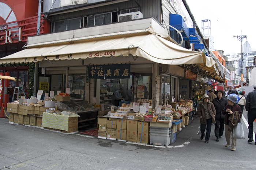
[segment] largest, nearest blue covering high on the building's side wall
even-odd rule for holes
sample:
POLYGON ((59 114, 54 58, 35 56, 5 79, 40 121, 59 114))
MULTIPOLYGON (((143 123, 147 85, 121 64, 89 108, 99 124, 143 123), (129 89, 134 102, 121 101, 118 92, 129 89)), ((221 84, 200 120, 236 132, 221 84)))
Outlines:
MULTIPOLYGON (((178 29, 179 31, 183 31, 182 37, 189 37, 189 28, 185 21, 183 20, 181 15, 178 14, 172 14, 170 13, 170 25, 172 25, 174 28, 178 29)), ((174 31, 173 28, 170 27, 170 31, 174 31)))

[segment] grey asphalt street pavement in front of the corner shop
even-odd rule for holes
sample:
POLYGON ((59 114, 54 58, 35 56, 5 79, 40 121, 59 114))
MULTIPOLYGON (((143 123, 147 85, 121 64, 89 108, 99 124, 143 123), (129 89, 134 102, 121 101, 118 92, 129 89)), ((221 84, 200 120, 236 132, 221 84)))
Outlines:
MULTIPOLYGON (((247 119, 245 110, 244 116, 247 119)), ((209 143, 204 143, 199 126, 200 120, 194 116, 177 134, 175 143, 152 147, 83 134, 54 133, 0 119, 0 169, 256 169, 256 146, 254 141, 247 142, 245 125, 245 139, 237 140, 236 151, 225 147, 225 134, 219 142, 215 141, 214 125, 209 143)))

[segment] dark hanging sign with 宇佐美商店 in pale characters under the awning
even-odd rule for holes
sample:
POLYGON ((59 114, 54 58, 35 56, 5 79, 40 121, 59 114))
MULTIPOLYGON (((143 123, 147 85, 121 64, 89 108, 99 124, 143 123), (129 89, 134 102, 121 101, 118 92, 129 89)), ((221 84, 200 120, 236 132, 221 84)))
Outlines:
POLYGON ((90 79, 129 79, 130 64, 90 65, 90 79))

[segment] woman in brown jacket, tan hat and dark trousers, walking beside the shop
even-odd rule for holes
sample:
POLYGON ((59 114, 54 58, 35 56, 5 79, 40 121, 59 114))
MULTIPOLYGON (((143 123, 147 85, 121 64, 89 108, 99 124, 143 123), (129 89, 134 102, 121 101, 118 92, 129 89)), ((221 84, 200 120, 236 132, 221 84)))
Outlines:
POLYGON ((214 105, 210 102, 209 96, 204 94, 202 96, 203 102, 199 102, 197 108, 197 114, 200 118, 200 131, 201 131, 201 140, 205 136, 205 143, 209 143, 210 134, 211 134, 211 123, 215 123, 216 111, 214 105), (206 134, 204 135, 204 131, 206 134))

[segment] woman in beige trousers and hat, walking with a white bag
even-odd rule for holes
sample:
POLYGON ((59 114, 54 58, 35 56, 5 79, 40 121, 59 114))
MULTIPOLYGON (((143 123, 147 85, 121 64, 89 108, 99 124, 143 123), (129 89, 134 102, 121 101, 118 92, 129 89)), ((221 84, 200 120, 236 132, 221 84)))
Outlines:
POLYGON ((241 108, 236 104, 236 96, 229 96, 229 98, 227 98, 227 103, 228 104, 222 110, 222 114, 226 115, 224 120, 224 129, 227 141, 226 147, 231 145, 231 151, 236 151, 237 139, 233 137, 233 127, 237 125, 239 119, 242 117, 242 111, 241 108))

